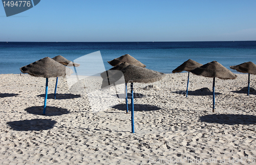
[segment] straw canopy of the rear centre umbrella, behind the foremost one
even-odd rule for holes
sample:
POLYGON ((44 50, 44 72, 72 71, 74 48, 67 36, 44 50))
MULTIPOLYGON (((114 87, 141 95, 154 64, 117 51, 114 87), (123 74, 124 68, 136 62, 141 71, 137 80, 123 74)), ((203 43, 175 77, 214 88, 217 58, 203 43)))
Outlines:
POLYGON ((119 65, 123 62, 134 64, 134 65, 137 65, 137 66, 140 66, 140 67, 146 67, 146 65, 144 65, 140 61, 136 60, 134 57, 132 57, 129 54, 125 54, 121 57, 115 58, 114 60, 108 61, 108 63, 111 64, 112 66, 117 66, 117 65, 119 65))

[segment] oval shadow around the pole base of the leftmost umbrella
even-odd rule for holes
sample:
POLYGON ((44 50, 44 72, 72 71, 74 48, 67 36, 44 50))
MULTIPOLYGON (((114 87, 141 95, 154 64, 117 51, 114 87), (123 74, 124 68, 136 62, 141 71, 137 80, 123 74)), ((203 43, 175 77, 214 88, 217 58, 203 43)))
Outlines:
MULTIPOLYGON (((25 111, 31 114, 43 115, 42 112, 44 110, 44 106, 34 106, 26 108, 25 111)), ((46 116, 57 116, 62 114, 70 113, 68 109, 65 108, 57 108, 52 106, 47 106, 47 113, 46 116)))

